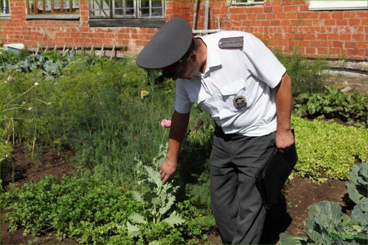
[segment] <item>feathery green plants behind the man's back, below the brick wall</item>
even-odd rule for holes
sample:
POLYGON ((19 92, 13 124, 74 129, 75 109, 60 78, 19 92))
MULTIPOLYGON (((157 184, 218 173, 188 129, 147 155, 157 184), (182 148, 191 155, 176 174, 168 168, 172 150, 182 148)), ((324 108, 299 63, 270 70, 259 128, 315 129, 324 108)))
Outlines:
POLYGON ((323 82, 329 78, 328 63, 322 58, 309 61, 301 54, 293 52, 291 56, 285 56, 274 50, 277 59, 286 68, 293 83, 293 95, 306 92, 319 92, 323 90, 323 82))

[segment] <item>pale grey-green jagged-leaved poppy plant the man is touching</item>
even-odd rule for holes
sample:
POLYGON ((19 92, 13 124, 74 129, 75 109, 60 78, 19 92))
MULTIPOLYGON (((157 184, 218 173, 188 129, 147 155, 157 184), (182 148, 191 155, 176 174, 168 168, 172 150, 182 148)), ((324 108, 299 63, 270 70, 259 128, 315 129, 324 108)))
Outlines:
MULTIPOLYGON (((166 145, 167 147, 167 145, 166 145)), ((172 244, 178 241, 182 242, 182 238, 179 232, 167 234, 169 238, 162 238, 166 235, 166 231, 169 230, 168 227, 163 224, 167 223, 170 227, 174 228, 174 225, 183 224, 185 222, 176 211, 171 212, 168 215, 168 211, 171 209, 171 206, 174 204, 176 199, 175 192, 177 191, 177 186, 173 186, 169 182, 166 184, 162 184, 160 179, 160 173, 158 171, 159 162, 155 162, 155 159, 159 159, 160 156, 166 153, 167 148, 160 147, 160 151, 158 153, 158 157, 154 157, 154 164, 156 169, 153 169, 150 166, 142 166, 142 161, 136 160, 135 172, 137 174, 137 184, 141 185, 141 192, 134 191, 135 200, 144 207, 142 213, 134 213, 129 216, 129 220, 133 223, 131 224, 127 221, 128 232, 133 237, 138 237, 139 239, 143 239, 145 241, 152 242, 157 238, 160 238, 158 241, 155 241, 155 244, 172 244), (145 171, 141 171, 142 168, 145 171), (145 185, 144 188, 142 185, 145 185), (162 219, 164 216, 168 216, 165 219, 162 219), (139 226, 139 224, 146 225, 144 227, 139 226), (151 224, 151 227, 150 227, 151 224), (143 230, 142 230, 143 228, 143 230), (147 233, 147 229, 149 232, 147 233), (179 234, 176 236, 175 234, 179 234), (177 240, 176 238, 180 238, 177 240)))

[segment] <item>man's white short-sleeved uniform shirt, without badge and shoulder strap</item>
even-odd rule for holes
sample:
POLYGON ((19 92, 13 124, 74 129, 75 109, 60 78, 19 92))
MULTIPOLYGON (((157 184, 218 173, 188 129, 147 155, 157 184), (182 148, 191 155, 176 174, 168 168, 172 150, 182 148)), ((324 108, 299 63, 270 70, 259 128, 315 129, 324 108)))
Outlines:
MULTIPOLYGON (((199 36, 197 36, 199 37, 199 36)), ((176 80, 175 110, 188 113, 193 103, 209 113, 225 134, 262 136, 276 131, 275 88, 286 68, 251 33, 222 31, 199 37, 207 46, 205 73, 176 80), (219 40, 243 36, 243 49, 220 49, 219 40), (234 96, 247 106, 236 109, 234 96)))

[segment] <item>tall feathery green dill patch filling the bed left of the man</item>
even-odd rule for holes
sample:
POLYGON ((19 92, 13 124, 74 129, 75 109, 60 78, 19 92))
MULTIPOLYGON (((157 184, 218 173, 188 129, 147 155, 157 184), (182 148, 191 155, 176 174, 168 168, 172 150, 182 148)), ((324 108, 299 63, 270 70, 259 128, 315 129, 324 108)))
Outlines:
MULTIPOLYGON (((61 54, 43 56, 52 61, 50 65, 63 63, 61 54)), ((129 164, 134 157, 138 154, 144 163, 151 162, 156 155, 152 146, 167 141, 168 130, 160 121, 173 113, 174 82, 156 83, 157 74, 138 68, 133 58, 79 58, 74 56, 53 81, 41 79, 41 69, 12 71, 14 81, 0 84, 1 106, 18 109, 1 114, 2 137, 13 138, 14 121, 15 141, 30 146, 35 142, 35 148, 71 147, 85 176, 126 183, 134 178, 129 164), (141 90, 149 94, 141 98, 141 90)), ((7 77, 4 74, 1 81, 7 77)), ((200 109, 192 110, 190 128, 197 127, 204 115, 200 109)))

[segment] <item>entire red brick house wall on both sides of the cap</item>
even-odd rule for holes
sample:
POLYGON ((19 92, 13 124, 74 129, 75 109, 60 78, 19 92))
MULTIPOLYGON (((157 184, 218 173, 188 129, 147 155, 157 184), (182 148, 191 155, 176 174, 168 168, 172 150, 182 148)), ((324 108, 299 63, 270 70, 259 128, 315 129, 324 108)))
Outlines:
MULTIPOLYGON (((192 25, 194 1, 165 1, 166 21, 182 17, 192 25)), ((80 1, 78 21, 25 20, 25 1, 10 1, 10 20, 1 20, 1 42, 22 42, 28 47, 127 45, 137 54, 157 28, 90 28, 88 2, 80 1)), ((210 1, 209 28, 220 21, 224 30, 250 32, 271 48, 307 57, 367 60, 367 10, 308 11, 306 1, 265 1, 263 5, 229 6, 210 1), (220 18, 220 19, 219 19, 220 18)), ((197 29, 204 28, 204 1, 199 4, 197 29)))

